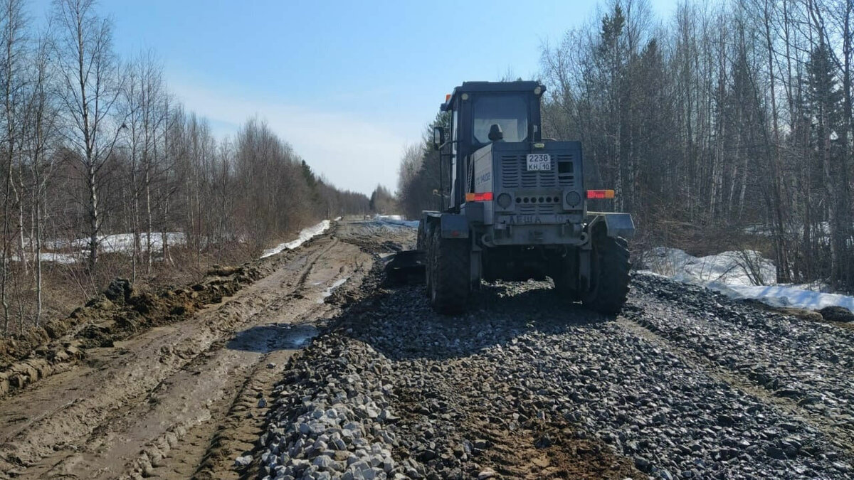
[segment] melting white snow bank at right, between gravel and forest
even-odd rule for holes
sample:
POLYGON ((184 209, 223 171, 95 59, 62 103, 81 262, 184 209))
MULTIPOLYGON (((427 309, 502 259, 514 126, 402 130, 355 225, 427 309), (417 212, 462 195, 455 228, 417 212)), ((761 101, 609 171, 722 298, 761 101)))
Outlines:
POLYGON ((772 307, 808 310, 838 306, 854 312, 854 296, 822 293, 805 285, 775 284, 774 263, 752 250, 698 258, 680 249, 659 247, 648 253, 644 263, 649 270, 642 273, 703 285, 734 299, 755 299, 772 307))

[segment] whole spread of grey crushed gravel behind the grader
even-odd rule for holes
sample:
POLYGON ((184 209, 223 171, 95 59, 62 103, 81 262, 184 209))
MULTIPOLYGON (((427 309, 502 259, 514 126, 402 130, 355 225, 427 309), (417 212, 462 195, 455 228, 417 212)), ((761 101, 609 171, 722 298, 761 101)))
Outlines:
POLYGON ((537 282, 355 305, 269 395, 260 476, 854 477, 850 331, 633 282, 617 319, 537 282))

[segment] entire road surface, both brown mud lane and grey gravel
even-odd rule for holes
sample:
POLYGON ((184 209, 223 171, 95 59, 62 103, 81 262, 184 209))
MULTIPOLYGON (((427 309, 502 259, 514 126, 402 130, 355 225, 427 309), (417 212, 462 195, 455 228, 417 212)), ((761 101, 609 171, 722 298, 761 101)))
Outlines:
POLYGON ((345 222, 183 321, 0 399, 0 477, 849 478, 854 331, 635 275, 443 317, 383 283, 414 231, 345 222))

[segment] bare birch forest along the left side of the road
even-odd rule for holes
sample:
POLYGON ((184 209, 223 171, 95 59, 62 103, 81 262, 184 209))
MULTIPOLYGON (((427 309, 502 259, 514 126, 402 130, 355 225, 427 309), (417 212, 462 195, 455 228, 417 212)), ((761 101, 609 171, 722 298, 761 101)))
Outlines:
POLYGON ((92 0, 57 0, 44 29, 27 6, 0 2, 3 333, 109 278, 191 277, 369 211, 367 196, 313 173, 261 120, 214 136, 170 94, 154 52, 116 55, 92 0))

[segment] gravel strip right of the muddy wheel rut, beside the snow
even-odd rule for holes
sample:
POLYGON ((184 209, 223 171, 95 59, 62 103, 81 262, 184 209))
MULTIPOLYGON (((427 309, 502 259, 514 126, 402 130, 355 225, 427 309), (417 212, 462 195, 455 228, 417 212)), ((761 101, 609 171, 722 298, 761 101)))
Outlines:
POLYGON ((854 330, 744 307, 661 278, 637 282, 628 315, 650 331, 788 399, 854 440, 854 330), (678 299, 678 302, 673 300, 678 299))

